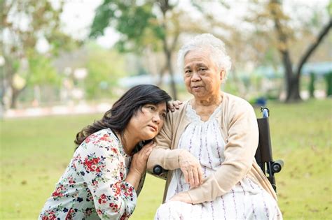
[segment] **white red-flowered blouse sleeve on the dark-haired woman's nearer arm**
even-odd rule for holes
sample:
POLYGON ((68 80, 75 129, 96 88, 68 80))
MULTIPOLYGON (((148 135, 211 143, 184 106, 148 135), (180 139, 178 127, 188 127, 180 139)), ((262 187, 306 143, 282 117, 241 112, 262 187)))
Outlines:
POLYGON ((109 134, 90 135, 78 147, 76 170, 81 174, 101 219, 126 219, 134 212, 137 195, 125 178, 125 161, 109 134))

